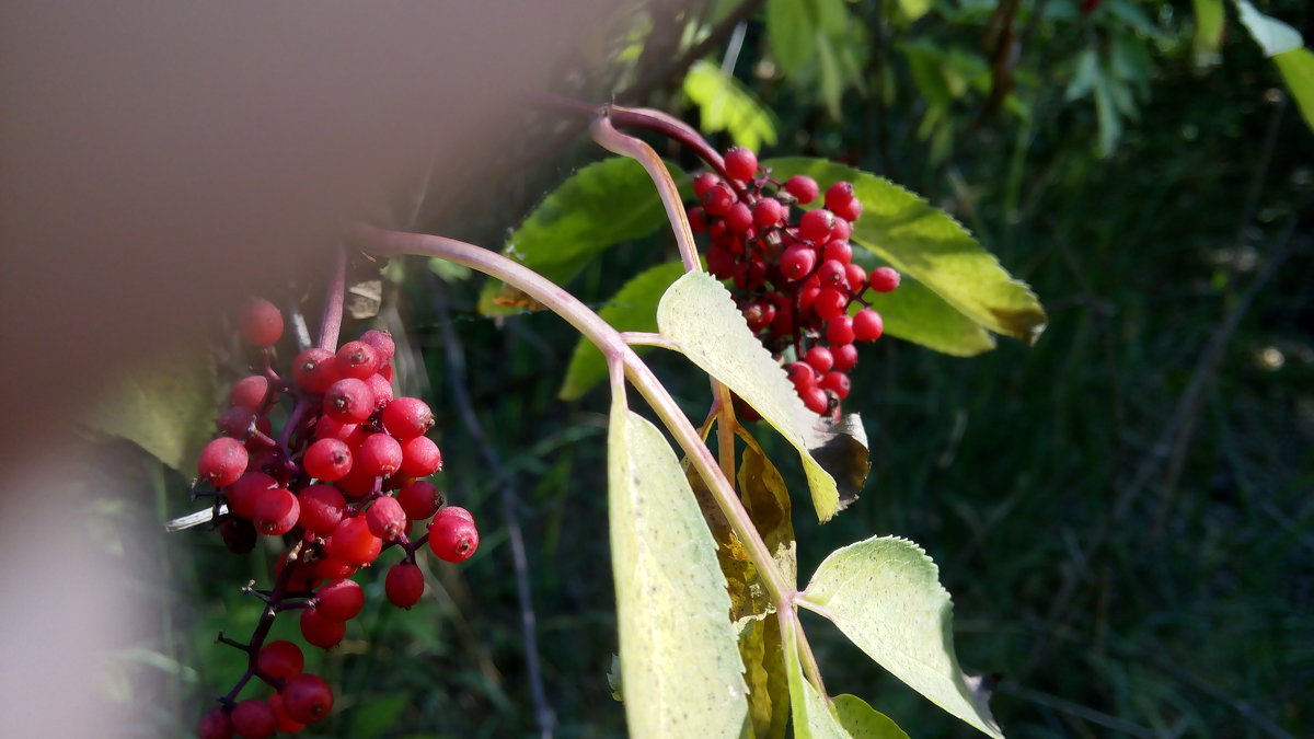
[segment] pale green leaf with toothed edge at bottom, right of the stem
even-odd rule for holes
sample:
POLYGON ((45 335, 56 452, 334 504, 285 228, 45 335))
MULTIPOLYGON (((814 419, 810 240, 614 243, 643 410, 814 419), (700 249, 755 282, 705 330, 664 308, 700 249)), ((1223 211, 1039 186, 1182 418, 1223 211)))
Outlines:
POLYGON ((1003 738, 986 696, 954 654, 953 602, 917 544, 876 536, 836 550, 800 605, 829 618, 895 677, 980 731, 1003 738))

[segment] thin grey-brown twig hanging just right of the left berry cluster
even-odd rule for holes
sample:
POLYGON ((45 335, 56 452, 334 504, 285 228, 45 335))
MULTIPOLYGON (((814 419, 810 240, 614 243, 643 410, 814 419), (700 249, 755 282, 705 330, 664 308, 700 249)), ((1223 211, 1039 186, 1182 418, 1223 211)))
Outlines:
POLYGON ((533 611, 533 596, 530 590, 530 560, 524 551, 524 535, 520 530, 520 519, 515 513, 516 497, 511 473, 502 464, 497 451, 489 442, 484 425, 478 414, 474 413, 474 404, 470 402, 469 392, 465 388, 465 351, 461 347, 460 337, 452 327, 451 309, 447 304, 447 288, 436 275, 424 271, 430 285, 434 289, 434 306, 438 312, 439 331, 443 335, 443 351, 447 359, 447 377, 452 388, 452 397, 456 401, 457 413, 465 425, 466 433, 480 447, 485 464, 493 472, 497 481, 498 494, 502 500, 502 518, 506 522, 507 540, 511 543, 511 561, 515 569, 515 592, 520 608, 520 632, 524 639, 524 665, 530 676, 530 694, 533 700, 533 715, 539 723, 539 735, 544 739, 552 736, 556 728, 556 711, 548 702, 547 689, 543 684, 541 657, 539 655, 537 617, 533 611))

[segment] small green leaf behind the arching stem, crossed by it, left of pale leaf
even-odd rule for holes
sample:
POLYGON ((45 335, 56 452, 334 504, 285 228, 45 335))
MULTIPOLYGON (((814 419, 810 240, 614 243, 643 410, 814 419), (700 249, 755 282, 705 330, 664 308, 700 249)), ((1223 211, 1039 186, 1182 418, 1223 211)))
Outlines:
MULTIPOLYGON (((681 275, 685 266, 681 262, 658 264, 643 272, 616 292, 598 316, 618 331, 656 331, 657 301, 666 288, 681 275)), ((636 346, 636 352, 644 354, 652 347, 636 346)), ((576 400, 607 377, 607 360, 589 339, 581 338, 570 355, 566 377, 561 381, 557 396, 561 400, 576 400)))

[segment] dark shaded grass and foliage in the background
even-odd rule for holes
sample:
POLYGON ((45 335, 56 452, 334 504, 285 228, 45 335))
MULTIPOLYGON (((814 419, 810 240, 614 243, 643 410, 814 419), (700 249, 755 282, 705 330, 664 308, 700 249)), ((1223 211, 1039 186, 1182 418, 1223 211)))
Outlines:
MULTIPOLYGON (((970 359, 888 338, 865 350, 845 409, 866 421, 872 472, 825 526, 795 497, 800 572, 875 534, 924 546, 954 596, 963 665, 1005 676, 993 709, 1012 738, 1314 734, 1314 134, 1235 8, 1222 63, 1197 68, 1192 3, 1108 0, 1083 17, 1070 0, 1024 1, 1010 97, 992 101, 993 1, 932 0, 916 21, 901 11, 916 3, 803 3, 850 14, 823 29, 828 51, 807 57, 773 47, 783 41, 766 21, 781 5, 761 4, 742 43, 725 34, 708 57, 721 64, 731 49, 737 89, 771 110, 778 141, 763 154, 842 160, 922 195, 1026 280, 1050 318, 1034 347, 1000 339, 970 359), (1116 110, 1116 135, 1104 104, 1070 100, 1087 53, 1121 59, 1114 83, 1134 108, 1116 110)), ((720 16, 699 13, 735 7, 627 16, 629 34, 616 38, 648 47, 625 54, 618 41, 610 51, 623 60, 581 70, 591 87, 576 95, 624 99, 629 80, 666 63, 657 51, 678 58, 685 24, 715 28, 720 16)), ((1314 38, 1305 3, 1259 8, 1314 38)), ((696 125, 679 84, 628 101, 696 125)), ((530 151, 551 137, 540 125, 527 122, 530 151)), ((578 137, 499 170, 498 205, 419 227, 501 246, 556 183, 598 158, 578 137)), ((662 231, 608 250, 568 288, 602 306, 671 258, 662 231)), ((481 280, 452 279, 460 347, 444 346, 434 276, 418 262, 394 275, 420 368, 407 389, 438 410, 442 485, 485 536, 472 561, 436 568, 439 596, 414 611, 371 600, 348 648, 323 657, 343 710, 313 734, 535 732, 498 479, 455 410, 456 348, 455 380, 511 475, 557 735, 618 735, 623 711, 606 679, 616 648, 606 389, 557 400, 576 335, 551 314, 480 317, 481 280)), ((700 421, 706 379, 669 354, 649 356, 700 421)), ((765 426, 756 433, 802 489, 796 458, 765 426)), ((177 483, 138 513, 184 512, 177 483)), ((210 640, 219 627, 248 631, 255 606, 237 589, 265 563, 200 531, 162 546, 147 554, 179 585, 156 594, 171 630, 150 648, 188 665, 188 726, 240 672, 210 640)), ((361 580, 376 593, 381 576, 361 580)), ((912 736, 972 734, 813 621, 832 693, 866 698, 912 736)), ((152 664, 125 657, 125 669, 164 669, 152 664)))

